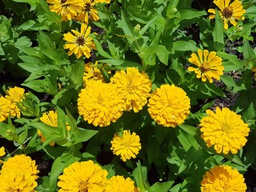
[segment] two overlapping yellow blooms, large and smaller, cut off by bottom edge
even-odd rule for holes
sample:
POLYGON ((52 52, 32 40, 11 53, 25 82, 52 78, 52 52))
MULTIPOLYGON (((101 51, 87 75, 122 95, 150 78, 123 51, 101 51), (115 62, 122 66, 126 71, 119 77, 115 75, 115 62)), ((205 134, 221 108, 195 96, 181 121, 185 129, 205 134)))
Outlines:
POLYGON ((138 187, 130 178, 114 176, 107 179, 107 171, 89 160, 74 162, 66 167, 60 175, 58 187, 62 191, 88 191, 88 192, 138 192, 138 187))

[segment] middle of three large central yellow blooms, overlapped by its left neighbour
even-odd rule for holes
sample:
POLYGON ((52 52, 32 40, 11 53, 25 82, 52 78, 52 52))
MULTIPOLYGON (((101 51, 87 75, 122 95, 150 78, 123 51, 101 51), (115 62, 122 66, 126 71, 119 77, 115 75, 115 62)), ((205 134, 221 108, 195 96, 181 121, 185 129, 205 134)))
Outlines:
POLYGON ((146 73, 139 73, 138 69, 128 67, 126 71, 116 71, 110 81, 118 86, 118 90, 121 90, 122 98, 126 102, 125 110, 134 110, 137 113, 146 105, 152 86, 146 73))

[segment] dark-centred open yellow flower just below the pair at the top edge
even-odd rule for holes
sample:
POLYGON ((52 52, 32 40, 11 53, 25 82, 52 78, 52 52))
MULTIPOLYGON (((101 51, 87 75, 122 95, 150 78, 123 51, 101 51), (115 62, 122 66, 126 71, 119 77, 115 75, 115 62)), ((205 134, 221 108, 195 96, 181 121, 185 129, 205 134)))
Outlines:
POLYGON ((67 42, 64 45, 64 49, 70 49, 68 55, 76 54, 76 58, 80 58, 85 55, 86 58, 90 58, 90 50, 96 49, 93 38, 88 37, 90 34, 90 26, 82 23, 81 32, 77 30, 71 30, 73 34, 68 32, 64 34, 64 40, 67 42))

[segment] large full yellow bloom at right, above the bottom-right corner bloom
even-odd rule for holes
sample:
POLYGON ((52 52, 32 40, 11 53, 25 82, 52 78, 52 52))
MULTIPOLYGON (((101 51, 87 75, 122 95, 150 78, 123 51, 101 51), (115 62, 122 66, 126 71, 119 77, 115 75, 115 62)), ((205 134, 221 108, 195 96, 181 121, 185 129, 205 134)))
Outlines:
POLYGON ((202 138, 208 147, 214 146, 218 154, 238 153, 247 142, 249 134, 248 124, 243 122, 241 115, 234 113, 228 108, 222 110, 217 107, 216 113, 206 110, 207 117, 202 118, 202 138))

